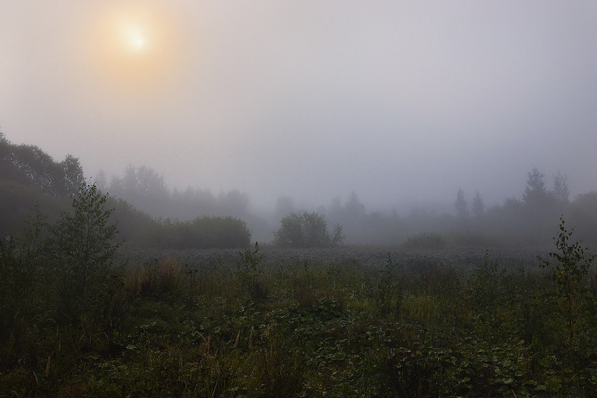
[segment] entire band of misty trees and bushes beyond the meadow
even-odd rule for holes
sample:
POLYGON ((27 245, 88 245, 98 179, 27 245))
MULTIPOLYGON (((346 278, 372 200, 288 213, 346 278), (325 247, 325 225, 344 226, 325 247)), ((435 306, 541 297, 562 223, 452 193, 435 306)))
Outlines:
MULTIPOLYGON (((36 203, 48 218, 58 218, 69 210, 69 196, 90 183, 87 175, 75 156, 54 161, 38 146, 13 144, 0 132, 0 233, 19 235, 36 203)), ((247 193, 238 190, 219 195, 190 186, 171 190, 164 175, 146 165, 130 165, 122 176, 109 180, 99 171, 92 181, 101 192, 109 193, 107 205, 115 209, 119 238, 144 246, 269 243, 282 218, 313 211, 324 216, 328 226, 340 224, 344 243, 350 244, 396 245, 434 234, 440 245, 549 245, 561 215, 575 227, 575 236, 597 243, 597 192, 569 198, 567 177, 559 172, 549 178, 549 186, 536 168, 521 175, 524 178, 527 185, 520 199, 509 198, 491 207, 485 206, 481 193, 470 199, 470 194, 455 187, 456 197, 446 199, 454 201, 452 214, 424 208, 413 208, 408 214, 370 212, 356 193, 346 200, 338 196, 316 209, 298 208, 292 198, 281 196, 275 208, 263 214, 254 211, 247 193), (217 236, 214 231, 221 229, 233 233, 217 236)))

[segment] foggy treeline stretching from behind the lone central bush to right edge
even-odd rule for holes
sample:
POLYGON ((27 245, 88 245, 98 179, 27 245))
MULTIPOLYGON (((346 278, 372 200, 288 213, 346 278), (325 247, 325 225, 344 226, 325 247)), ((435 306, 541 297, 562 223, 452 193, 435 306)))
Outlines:
MULTIPOLYGON (((367 211, 353 192, 345 202, 338 196, 316 212, 325 215, 329 224, 342 226, 346 243, 410 244, 413 237, 433 234, 434 239, 441 237, 442 242, 436 242, 440 246, 546 245, 552 241, 561 215, 576 227, 581 239, 597 242, 597 192, 577 195, 574 200, 569 196, 565 175, 557 172, 548 188, 544 174, 534 168, 527 173, 521 199, 507 198, 501 205, 485 206, 478 191, 469 203, 466 193, 458 189, 453 213, 413 207, 399 215, 395 209, 367 211)), ((282 196, 275 213, 279 219, 312 210, 295 206, 290 197, 282 196)))

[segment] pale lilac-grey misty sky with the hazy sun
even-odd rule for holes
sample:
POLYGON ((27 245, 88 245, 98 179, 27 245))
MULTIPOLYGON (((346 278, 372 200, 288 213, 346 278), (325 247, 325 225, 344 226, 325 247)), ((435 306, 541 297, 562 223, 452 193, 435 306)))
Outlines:
POLYGON ((0 128, 85 174, 376 206, 597 190, 597 2, 0 0, 0 128))

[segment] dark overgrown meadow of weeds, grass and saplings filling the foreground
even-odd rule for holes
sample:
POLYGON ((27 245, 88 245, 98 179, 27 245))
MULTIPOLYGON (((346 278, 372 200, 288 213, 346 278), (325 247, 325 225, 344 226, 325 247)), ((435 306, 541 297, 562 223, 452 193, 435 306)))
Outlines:
POLYGON ((597 394, 596 274, 563 220, 536 251, 165 252, 117 248, 104 199, 0 240, 1 396, 597 394))

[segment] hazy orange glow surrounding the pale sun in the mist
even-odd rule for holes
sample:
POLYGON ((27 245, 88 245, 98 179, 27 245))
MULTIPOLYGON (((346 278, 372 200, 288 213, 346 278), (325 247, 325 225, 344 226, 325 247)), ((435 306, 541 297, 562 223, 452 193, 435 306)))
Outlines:
POLYGON ((180 75, 177 24, 165 10, 146 2, 114 7, 91 28, 87 47, 95 84, 103 95, 121 100, 156 95, 180 75))

